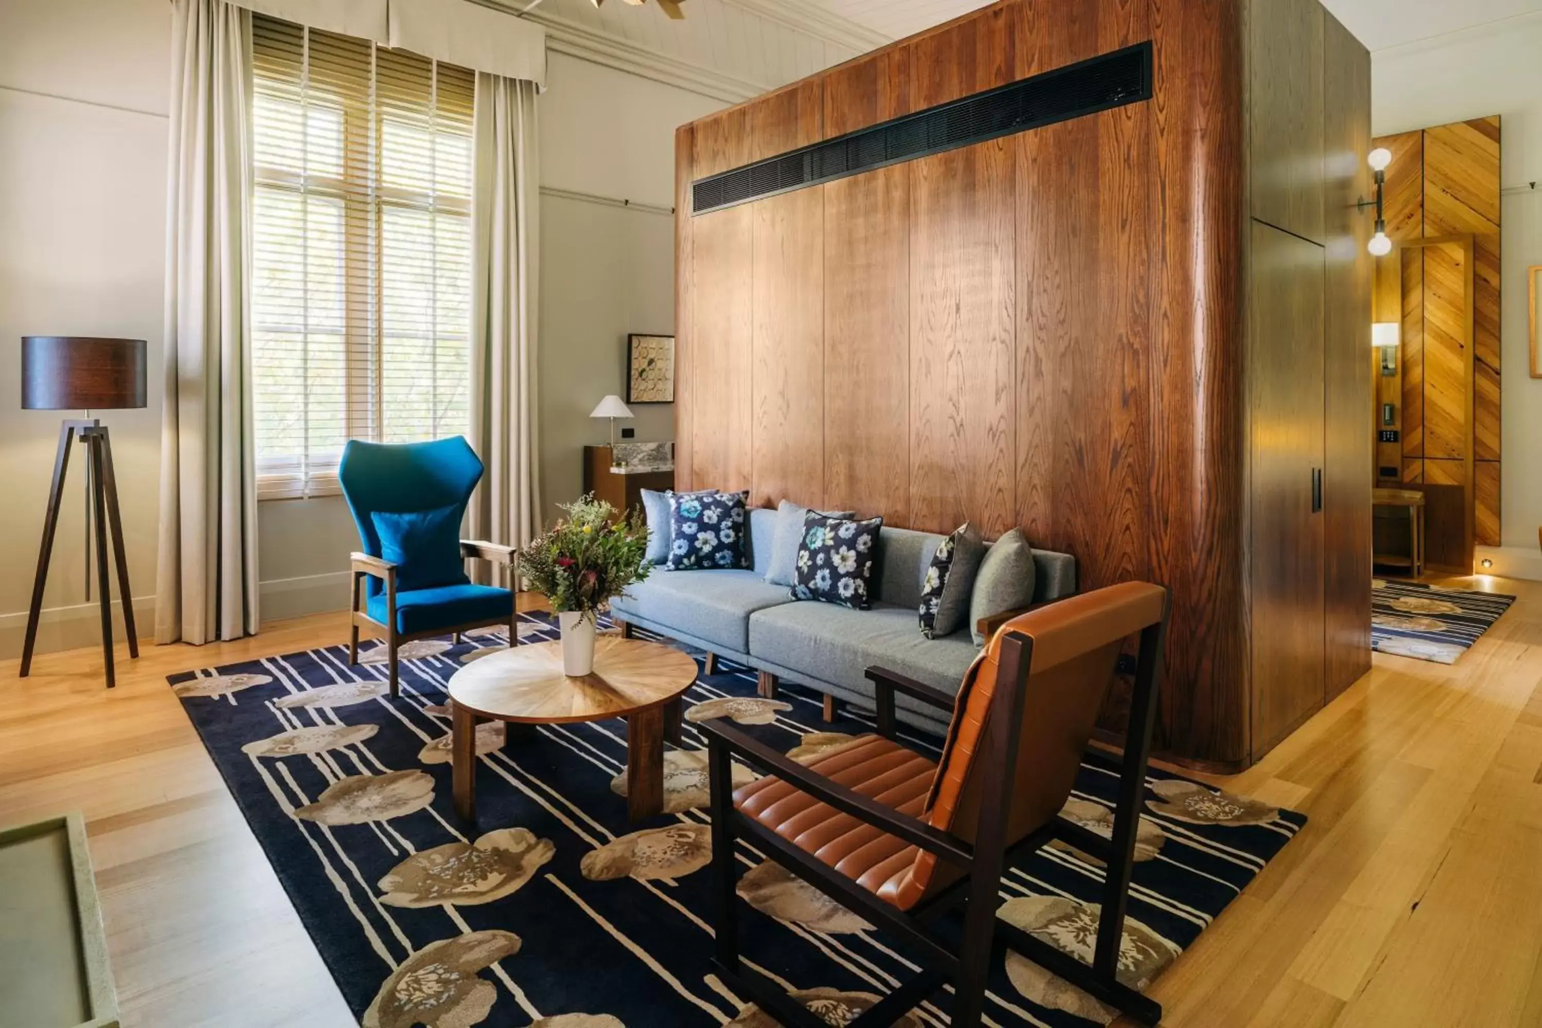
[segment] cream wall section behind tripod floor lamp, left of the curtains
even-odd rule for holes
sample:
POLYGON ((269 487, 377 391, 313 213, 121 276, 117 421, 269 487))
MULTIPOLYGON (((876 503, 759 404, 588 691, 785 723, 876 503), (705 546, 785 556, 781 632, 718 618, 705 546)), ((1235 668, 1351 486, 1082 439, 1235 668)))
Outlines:
MULTIPOLYGON (((0 657, 22 649, 59 422, 83 416, 20 410, 23 334, 150 344, 150 405, 102 418, 113 432, 136 610, 151 613, 168 34, 163 0, 0 3, 0 657)), ((99 630, 96 607, 85 604, 83 456, 77 445, 43 596, 45 650, 89 643, 99 630)))

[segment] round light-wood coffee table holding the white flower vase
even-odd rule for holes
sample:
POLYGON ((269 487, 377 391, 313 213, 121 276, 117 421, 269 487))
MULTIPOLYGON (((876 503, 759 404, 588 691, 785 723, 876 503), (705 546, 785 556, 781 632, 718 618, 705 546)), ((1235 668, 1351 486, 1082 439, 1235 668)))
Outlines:
POLYGON ((490 653, 450 678, 455 812, 476 817, 476 721, 564 724, 626 718, 626 811, 652 817, 665 803, 665 735, 680 741, 680 695, 695 661, 658 643, 601 635, 594 672, 563 674, 561 643, 490 653))

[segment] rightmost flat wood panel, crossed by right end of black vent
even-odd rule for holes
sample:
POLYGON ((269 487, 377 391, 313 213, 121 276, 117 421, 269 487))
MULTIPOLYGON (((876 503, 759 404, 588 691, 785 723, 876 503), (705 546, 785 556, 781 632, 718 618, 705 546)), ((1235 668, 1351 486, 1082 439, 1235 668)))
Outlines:
MULTIPOLYGON (((1118 0, 1029 0, 1019 15, 1016 77, 1150 35, 1144 5, 1118 0)), ((1018 521, 1082 555, 1084 589, 1147 578, 1150 108, 1013 139, 1018 521)))

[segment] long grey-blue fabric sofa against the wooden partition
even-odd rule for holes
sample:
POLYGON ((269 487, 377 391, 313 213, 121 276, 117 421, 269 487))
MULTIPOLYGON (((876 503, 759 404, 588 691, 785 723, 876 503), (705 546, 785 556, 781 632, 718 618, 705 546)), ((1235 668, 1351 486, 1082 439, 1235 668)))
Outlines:
MULTIPOLYGON (((766 584, 776 512, 749 512, 751 570, 666 572, 662 567, 611 603, 637 627, 699 646, 711 653, 811 686, 837 700, 871 701, 873 664, 956 694, 979 652, 968 627, 928 640, 916 607, 921 583, 941 535, 884 529, 879 533, 871 610, 796 601, 786 586, 766 584)), ((1035 550, 1033 603, 1076 592, 1076 561, 1067 553, 1035 550)), ((930 729, 947 727, 947 715, 899 695, 899 717, 930 729)))

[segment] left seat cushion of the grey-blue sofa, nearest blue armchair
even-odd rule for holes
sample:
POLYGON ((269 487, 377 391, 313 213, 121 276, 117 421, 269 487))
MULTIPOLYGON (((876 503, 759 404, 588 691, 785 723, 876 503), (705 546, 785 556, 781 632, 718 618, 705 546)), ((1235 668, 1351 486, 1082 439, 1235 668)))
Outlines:
POLYGON ((768 586, 748 569, 655 570, 646 581, 628 586, 625 595, 611 601, 611 609, 621 618, 646 618, 736 653, 748 653, 749 615, 791 603, 786 586, 768 586))

